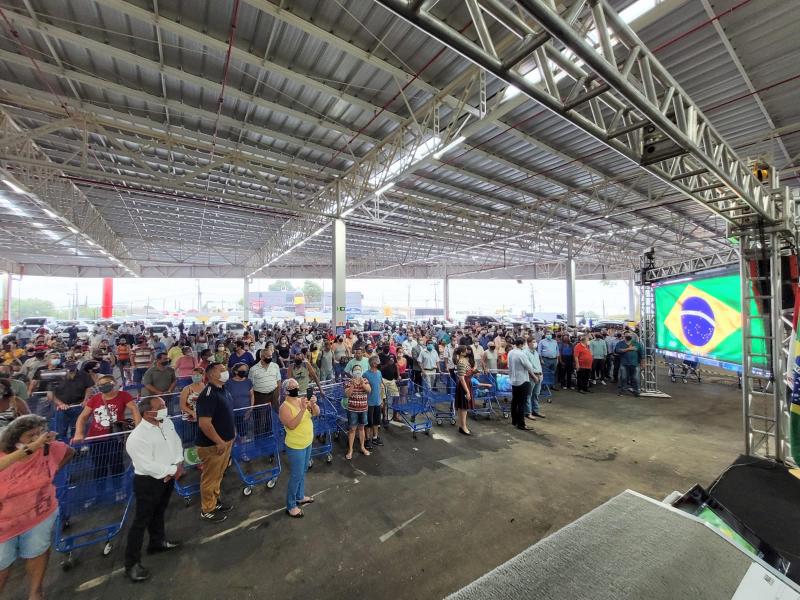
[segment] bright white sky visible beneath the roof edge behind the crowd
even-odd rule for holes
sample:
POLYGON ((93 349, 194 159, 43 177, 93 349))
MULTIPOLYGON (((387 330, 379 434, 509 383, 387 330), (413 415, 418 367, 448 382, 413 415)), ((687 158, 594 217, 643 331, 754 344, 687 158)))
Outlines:
MULTIPOLYGON (((272 280, 257 279, 250 291, 266 291, 272 280)), ((330 291, 330 280, 314 280, 330 291)), ((115 279, 115 305, 133 304, 144 306, 149 301, 156 310, 173 311, 176 308, 190 309, 197 305, 198 283, 202 302, 225 303, 233 307, 243 295, 241 279, 115 279)), ((301 287, 302 280, 292 280, 301 287)), ((578 281, 577 310, 603 314, 622 314, 628 311, 628 284, 626 281, 578 281)), ((99 306, 102 280, 69 279, 56 277, 15 277, 12 296, 18 298, 44 298, 51 300, 57 308, 70 305, 77 285, 80 304, 99 306)), ((404 309, 409 294, 413 307, 442 306, 441 280, 414 279, 351 279, 347 291, 364 294, 366 306, 393 306, 404 309)), ((536 312, 564 312, 566 309, 566 282, 554 280, 478 280, 454 279, 450 282, 451 312, 469 311, 494 314, 500 309, 513 313, 530 310, 531 286, 536 303, 536 312)), ((638 292, 638 290, 637 290, 638 292)))

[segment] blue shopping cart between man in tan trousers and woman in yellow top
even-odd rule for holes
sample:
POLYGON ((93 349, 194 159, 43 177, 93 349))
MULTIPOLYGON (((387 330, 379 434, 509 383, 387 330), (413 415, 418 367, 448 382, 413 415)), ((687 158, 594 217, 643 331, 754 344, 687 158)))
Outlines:
POLYGON ((237 408, 233 411, 236 441, 233 444, 233 464, 249 496, 253 487, 266 483, 275 487, 281 472, 280 450, 283 446, 282 428, 271 404, 237 408))

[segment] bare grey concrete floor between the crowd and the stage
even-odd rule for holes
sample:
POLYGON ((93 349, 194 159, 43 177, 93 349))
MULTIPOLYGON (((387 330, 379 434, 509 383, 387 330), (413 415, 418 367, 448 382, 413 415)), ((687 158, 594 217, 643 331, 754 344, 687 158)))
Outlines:
MULTIPOLYGON (((730 464, 743 446, 735 382, 662 388, 672 398, 556 392, 533 432, 481 419, 471 438, 448 423, 414 440, 393 426, 352 462, 337 445, 308 474, 317 501, 302 520, 283 512, 286 473, 244 497, 229 470, 228 521, 200 522, 196 502, 175 498, 167 531, 184 547, 144 557, 151 581, 123 577, 123 533, 108 557, 76 552, 67 573, 54 555, 48 597, 441 598, 625 489, 661 499, 730 464)), ((24 597, 22 575, 6 597, 24 597)))

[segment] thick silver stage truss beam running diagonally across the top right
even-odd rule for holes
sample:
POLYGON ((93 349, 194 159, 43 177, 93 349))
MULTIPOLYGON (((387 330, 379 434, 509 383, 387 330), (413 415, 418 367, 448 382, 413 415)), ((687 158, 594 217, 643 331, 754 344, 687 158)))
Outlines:
POLYGON ((606 0, 562 14, 542 0, 470 0, 447 15, 429 0, 377 1, 726 221, 785 218, 606 0))

